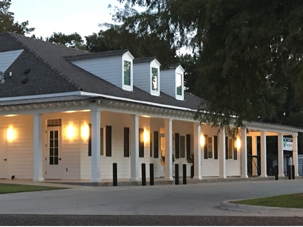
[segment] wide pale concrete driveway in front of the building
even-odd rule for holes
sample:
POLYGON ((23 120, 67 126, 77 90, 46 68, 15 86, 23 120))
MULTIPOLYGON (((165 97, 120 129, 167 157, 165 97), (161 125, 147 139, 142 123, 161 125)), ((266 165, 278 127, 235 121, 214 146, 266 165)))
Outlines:
POLYGON ((281 216, 274 211, 223 210, 219 205, 225 200, 303 192, 303 180, 68 187, 73 188, 2 194, 0 214, 281 216))

